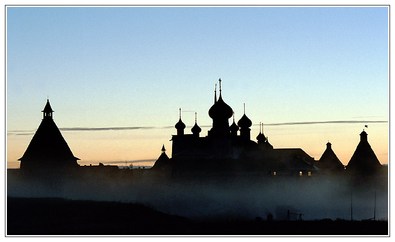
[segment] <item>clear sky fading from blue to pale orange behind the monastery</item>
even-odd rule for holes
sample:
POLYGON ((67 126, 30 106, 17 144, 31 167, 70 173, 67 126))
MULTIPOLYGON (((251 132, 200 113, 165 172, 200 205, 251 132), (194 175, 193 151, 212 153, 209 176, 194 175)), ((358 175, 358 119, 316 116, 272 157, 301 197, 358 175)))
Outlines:
MULTIPOLYGON (((6 7, 6 157, 17 168, 46 99, 79 164, 150 166, 174 125, 206 136, 224 101, 274 148, 349 162, 389 144, 388 7, 6 7)), ((229 124, 232 123, 229 119, 229 124)))

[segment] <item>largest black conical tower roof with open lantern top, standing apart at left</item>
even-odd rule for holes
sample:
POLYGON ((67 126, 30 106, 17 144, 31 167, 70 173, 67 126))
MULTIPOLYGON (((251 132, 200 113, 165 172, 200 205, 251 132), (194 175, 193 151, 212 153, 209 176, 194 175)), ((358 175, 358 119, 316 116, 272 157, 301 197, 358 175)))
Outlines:
MULTIPOLYGON (((49 102, 44 111, 51 111, 49 102)), ((25 153, 18 160, 21 169, 70 168, 77 160, 52 119, 43 119, 25 153)))

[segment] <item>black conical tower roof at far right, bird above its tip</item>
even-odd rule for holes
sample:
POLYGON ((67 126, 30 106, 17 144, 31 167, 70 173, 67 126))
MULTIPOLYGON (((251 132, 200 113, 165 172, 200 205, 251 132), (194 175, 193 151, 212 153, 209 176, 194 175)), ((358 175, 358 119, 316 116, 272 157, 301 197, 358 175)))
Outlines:
POLYGON ((347 164, 346 171, 369 174, 378 171, 380 168, 380 161, 367 141, 367 134, 362 131, 359 144, 347 164))

